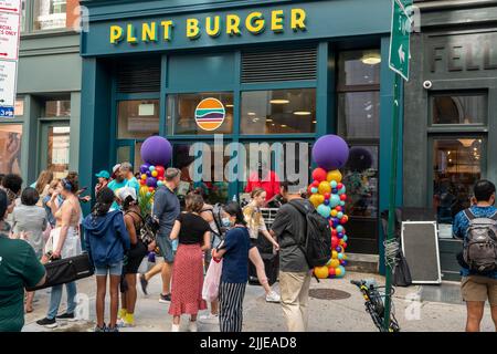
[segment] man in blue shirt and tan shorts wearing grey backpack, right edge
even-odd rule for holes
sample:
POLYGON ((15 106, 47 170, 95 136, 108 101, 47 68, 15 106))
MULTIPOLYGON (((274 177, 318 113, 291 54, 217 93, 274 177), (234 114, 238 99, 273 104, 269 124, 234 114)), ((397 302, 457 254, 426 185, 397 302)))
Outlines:
POLYGON ((478 180, 472 207, 456 215, 453 233, 464 240, 457 259, 463 267, 461 291, 467 308, 467 332, 478 332, 485 302, 497 331, 497 208, 495 185, 478 180))

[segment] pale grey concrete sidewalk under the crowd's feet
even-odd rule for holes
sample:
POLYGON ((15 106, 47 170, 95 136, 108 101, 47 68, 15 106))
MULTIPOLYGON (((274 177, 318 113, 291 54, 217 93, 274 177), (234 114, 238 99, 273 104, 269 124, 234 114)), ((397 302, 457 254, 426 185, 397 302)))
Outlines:
MULTIPOLYGON (((321 280, 317 283, 311 281, 311 292, 332 290, 331 295, 337 295, 336 300, 320 300, 310 298, 309 301, 309 331, 311 332, 377 332, 369 314, 364 310, 363 299, 359 290, 350 284, 350 280, 377 279, 379 284, 384 280, 376 274, 348 273, 345 279, 321 280)), ((158 302, 160 292, 160 277, 157 275, 150 281, 148 292, 145 296, 138 289, 138 301, 135 313, 137 326, 133 329, 121 329, 121 332, 169 332, 171 329, 171 316, 168 312, 168 304, 158 302)), ((464 303, 436 302, 437 296, 432 296, 434 301, 413 302, 416 294, 425 294, 445 291, 451 288, 455 293, 457 283, 444 283, 443 287, 410 287, 398 288, 393 298, 395 315, 403 332, 458 332, 464 331, 466 321, 466 310, 464 303), (429 291, 427 291, 429 290, 429 291), (408 309, 408 311, 405 311, 408 309), (419 310, 419 311, 417 311, 419 310), (416 316, 419 313, 419 319, 416 316)), ((139 285, 138 285, 139 288, 139 285)), ((274 287, 278 290, 277 284, 274 287)), ((78 292, 84 296, 89 296, 89 321, 60 322, 55 330, 49 330, 36 325, 35 321, 43 317, 49 303, 49 290, 40 291, 36 294, 38 301, 34 303, 34 312, 25 317, 24 332, 84 332, 93 331, 95 325, 95 280, 93 278, 78 282, 78 292)), ((64 292, 65 296, 65 292, 64 292)), ((108 294, 107 294, 108 296, 108 294)), ((444 296, 438 296, 444 300, 444 296)), ((65 303, 61 305, 61 313, 65 309, 65 303)), ((107 304, 108 319, 108 304, 107 304)), ((182 317, 182 331, 188 327, 188 317, 182 317)), ((219 332, 218 325, 199 323, 199 332, 219 332)), ((277 303, 266 303, 264 291, 261 287, 247 285, 244 300, 244 332, 285 332, 283 313, 277 303)), ((494 332, 489 308, 486 308, 482 331, 494 332)))

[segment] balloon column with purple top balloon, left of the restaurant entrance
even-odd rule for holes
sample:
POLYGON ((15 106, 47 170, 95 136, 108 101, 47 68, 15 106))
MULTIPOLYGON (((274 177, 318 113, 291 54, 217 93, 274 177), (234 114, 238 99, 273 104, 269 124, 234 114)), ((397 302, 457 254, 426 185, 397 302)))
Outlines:
POLYGON ((166 167, 171 160, 172 146, 161 136, 151 136, 141 145, 139 202, 144 215, 150 208, 157 187, 165 183, 166 167))

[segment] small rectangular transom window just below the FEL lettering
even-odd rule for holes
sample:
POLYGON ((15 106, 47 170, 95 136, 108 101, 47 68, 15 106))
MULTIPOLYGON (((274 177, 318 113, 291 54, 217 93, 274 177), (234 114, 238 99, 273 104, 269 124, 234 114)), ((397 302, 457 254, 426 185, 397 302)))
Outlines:
POLYGON ((488 115, 487 95, 433 94, 432 124, 485 124, 488 115))

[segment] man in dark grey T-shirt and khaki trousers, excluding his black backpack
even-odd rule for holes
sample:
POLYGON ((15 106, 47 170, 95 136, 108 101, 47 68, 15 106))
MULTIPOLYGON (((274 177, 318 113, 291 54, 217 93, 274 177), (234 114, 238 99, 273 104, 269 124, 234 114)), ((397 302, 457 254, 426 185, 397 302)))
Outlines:
POLYGON ((296 185, 282 183, 279 191, 287 204, 279 208, 271 233, 277 236, 279 244, 279 290, 288 331, 306 332, 311 270, 303 244, 307 232, 305 214, 314 207, 294 190, 296 185))

